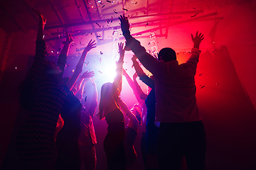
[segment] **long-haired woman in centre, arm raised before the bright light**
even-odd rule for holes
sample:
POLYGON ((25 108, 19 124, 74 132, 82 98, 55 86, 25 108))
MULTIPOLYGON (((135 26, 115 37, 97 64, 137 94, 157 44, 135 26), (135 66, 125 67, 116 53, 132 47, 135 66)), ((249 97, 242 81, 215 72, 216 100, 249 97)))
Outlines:
POLYGON ((122 87, 122 66, 124 64, 124 44, 118 43, 119 61, 117 62, 117 76, 113 83, 102 85, 100 94, 99 113, 100 119, 107 120, 107 135, 104 140, 104 149, 107 155, 109 170, 125 169, 124 152, 124 114, 119 108, 119 94, 122 87))

